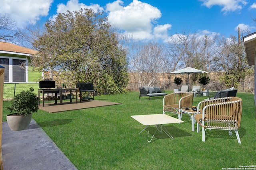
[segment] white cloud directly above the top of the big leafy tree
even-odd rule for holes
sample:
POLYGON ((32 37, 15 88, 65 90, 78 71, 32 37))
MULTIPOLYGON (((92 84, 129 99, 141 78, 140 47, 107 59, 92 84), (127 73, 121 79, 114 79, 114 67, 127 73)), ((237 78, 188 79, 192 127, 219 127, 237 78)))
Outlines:
POLYGON ((98 4, 91 4, 90 6, 85 5, 83 3, 78 3, 78 0, 69 0, 67 2, 67 4, 58 4, 57 6, 57 13, 65 13, 67 10, 73 12, 73 11, 78 11, 80 9, 84 9, 84 8, 92 8, 92 10, 94 10, 95 12, 97 12, 98 10, 100 12, 103 11, 103 8, 100 7, 100 5, 98 4))

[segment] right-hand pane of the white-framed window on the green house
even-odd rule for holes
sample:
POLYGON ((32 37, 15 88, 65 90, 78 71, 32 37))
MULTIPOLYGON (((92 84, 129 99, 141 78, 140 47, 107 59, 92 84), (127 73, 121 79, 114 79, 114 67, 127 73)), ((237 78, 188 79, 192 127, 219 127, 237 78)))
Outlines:
POLYGON ((12 59, 12 82, 26 82, 25 60, 12 59))

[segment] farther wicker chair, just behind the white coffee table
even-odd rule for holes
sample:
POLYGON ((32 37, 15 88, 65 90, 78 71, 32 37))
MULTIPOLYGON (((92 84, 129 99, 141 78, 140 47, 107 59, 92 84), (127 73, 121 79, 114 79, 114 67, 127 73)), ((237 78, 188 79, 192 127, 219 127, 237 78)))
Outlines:
POLYGON ((176 113, 178 115, 178 119, 181 120, 180 109, 192 107, 193 95, 194 94, 190 92, 175 92, 164 96, 163 113, 176 113))

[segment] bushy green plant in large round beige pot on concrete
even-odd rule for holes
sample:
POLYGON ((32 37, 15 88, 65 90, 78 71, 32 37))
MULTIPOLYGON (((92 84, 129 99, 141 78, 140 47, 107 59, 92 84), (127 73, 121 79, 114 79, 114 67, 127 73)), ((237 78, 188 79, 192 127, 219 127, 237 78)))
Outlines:
POLYGON ((10 107, 10 113, 15 113, 6 116, 7 123, 12 131, 20 131, 27 129, 32 113, 38 110, 38 97, 33 93, 32 87, 29 90, 23 90, 20 94, 16 94, 12 100, 10 107))

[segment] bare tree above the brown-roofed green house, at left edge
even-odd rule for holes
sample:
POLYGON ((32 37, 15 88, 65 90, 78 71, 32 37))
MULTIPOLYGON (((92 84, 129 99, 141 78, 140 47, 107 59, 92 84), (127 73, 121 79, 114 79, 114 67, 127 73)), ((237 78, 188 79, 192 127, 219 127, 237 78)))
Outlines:
POLYGON ((8 14, 0 13, 0 40, 15 43, 21 34, 16 22, 8 14))

